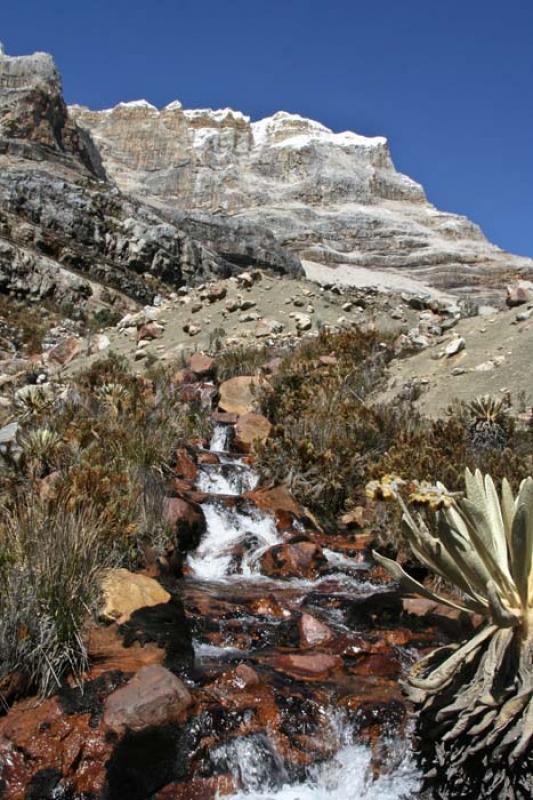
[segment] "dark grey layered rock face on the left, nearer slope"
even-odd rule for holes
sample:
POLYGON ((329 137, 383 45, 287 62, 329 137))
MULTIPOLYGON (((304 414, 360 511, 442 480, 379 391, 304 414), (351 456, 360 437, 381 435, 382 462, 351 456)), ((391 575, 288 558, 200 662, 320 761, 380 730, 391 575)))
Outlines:
POLYGON ((103 285, 149 302, 162 282, 201 283, 259 262, 301 271, 268 230, 123 195, 68 114, 52 58, 0 53, 1 292, 79 304, 103 285))

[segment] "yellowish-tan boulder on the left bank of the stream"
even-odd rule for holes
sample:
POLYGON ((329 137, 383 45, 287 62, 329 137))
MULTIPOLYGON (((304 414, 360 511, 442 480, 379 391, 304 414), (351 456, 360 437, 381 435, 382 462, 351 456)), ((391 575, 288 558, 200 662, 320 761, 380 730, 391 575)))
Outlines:
POLYGON ((109 622, 122 624, 138 609, 170 600, 169 593, 153 578, 127 569, 106 570, 100 586, 103 603, 99 616, 109 622))

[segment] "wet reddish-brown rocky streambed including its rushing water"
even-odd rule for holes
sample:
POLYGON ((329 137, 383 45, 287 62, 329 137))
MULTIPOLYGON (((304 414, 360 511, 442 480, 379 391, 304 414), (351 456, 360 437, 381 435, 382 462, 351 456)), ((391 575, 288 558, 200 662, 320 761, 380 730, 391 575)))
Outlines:
POLYGON ((0 797, 417 796, 399 680, 444 629, 405 612, 364 531, 257 489, 232 432, 180 454, 180 552, 136 576, 141 608, 123 582, 83 687, 0 719, 0 797))

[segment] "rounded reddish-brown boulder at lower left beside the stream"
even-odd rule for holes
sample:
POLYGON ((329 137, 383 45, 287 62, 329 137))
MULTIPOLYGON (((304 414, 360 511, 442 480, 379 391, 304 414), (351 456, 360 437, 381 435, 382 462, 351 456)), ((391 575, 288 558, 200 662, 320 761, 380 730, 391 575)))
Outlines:
POLYGON ((107 697, 103 724, 114 733, 183 722, 192 697, 179 678, 158 664, 142 667, 107 697))

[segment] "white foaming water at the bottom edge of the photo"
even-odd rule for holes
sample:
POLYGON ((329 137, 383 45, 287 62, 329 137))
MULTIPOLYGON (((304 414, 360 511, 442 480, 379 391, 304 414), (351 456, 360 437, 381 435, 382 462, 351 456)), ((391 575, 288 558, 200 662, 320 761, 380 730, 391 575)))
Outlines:
POLYGON ((303 783, 290 780, 266 737, 226 745, 226 763, 243 787, 231 795, 232 800, 412 800, 416 796, 419 775, 405 742, 387 743, 388 764, 374 779, 370 748, 354 744, 351 731, 339 718, 332 716, 330 722, 324 739, 338 749, 332 758, 310 767, 303 783))

